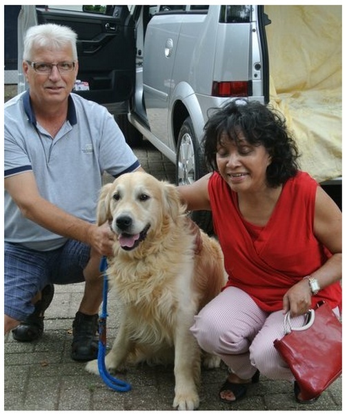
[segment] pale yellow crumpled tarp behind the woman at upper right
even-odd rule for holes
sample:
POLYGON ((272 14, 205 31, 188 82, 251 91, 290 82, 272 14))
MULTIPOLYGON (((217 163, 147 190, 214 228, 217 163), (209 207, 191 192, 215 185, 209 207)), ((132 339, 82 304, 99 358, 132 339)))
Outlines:
POLYGON ((288 121, 300 166, 341 177, 341 6, 265 6, 270 103, 288 121))

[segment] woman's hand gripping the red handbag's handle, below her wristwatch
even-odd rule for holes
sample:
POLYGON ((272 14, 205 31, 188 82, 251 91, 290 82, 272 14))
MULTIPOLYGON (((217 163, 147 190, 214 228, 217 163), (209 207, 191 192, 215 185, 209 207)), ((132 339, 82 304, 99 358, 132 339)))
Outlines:
POLYGON ((283 297, 283 312, 290 311, 290 316, 295 317, 304 315, 311 307, 311 289, 308 279, 302 279, 300 282, 287 290, 283 297))

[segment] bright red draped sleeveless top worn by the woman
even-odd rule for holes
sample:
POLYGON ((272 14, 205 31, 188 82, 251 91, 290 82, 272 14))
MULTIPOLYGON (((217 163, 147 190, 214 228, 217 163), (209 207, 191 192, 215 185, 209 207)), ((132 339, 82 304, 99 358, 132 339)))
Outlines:
MULTIPOLYGON (((259 227, 244 220, 237 193, 213 173, 208 193, 228 273, 225 287, 244 290, 266 312, 279 311, 286 291, 326 262, 331 253, 313 233, 317 186, 306 172, 298 172, 284 184, 266 226, 259 227)), ((320 290, 312 305, 322 299, 332 308, 341 306, 341 284, 320 290)))

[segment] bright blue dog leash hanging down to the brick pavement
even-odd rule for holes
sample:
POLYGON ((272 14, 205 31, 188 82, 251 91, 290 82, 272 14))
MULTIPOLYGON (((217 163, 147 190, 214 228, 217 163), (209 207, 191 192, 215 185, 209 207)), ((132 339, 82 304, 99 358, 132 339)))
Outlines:
POLYGON ((99 368, 100 377, 103 379, 106 385, 108 385, 112 390, 115 391, 130 391, 131 385, 127 382, 118 380, 115 377, 112 377, 108 372, 105 365, 105 355, 106 355, 106 318, 107 318, 107 294, 108 294, 108 277, 106 274, 106 269, 108 267, 106 257, 103 257, 100 262, 100 272, 103 274, 103 304, 102 312, 99 317, 99 352, 97 354, 97 366, 99 368))

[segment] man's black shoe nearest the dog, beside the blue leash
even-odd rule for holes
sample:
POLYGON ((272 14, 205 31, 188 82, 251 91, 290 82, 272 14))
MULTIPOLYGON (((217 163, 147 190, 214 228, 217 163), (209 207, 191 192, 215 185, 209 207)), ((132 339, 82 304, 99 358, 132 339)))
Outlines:
POLYGON ((85 315, 77 312, 72 322, 71 357, 75 361, 90 361, 97 358, 98 353, 99 315, 85 315))

